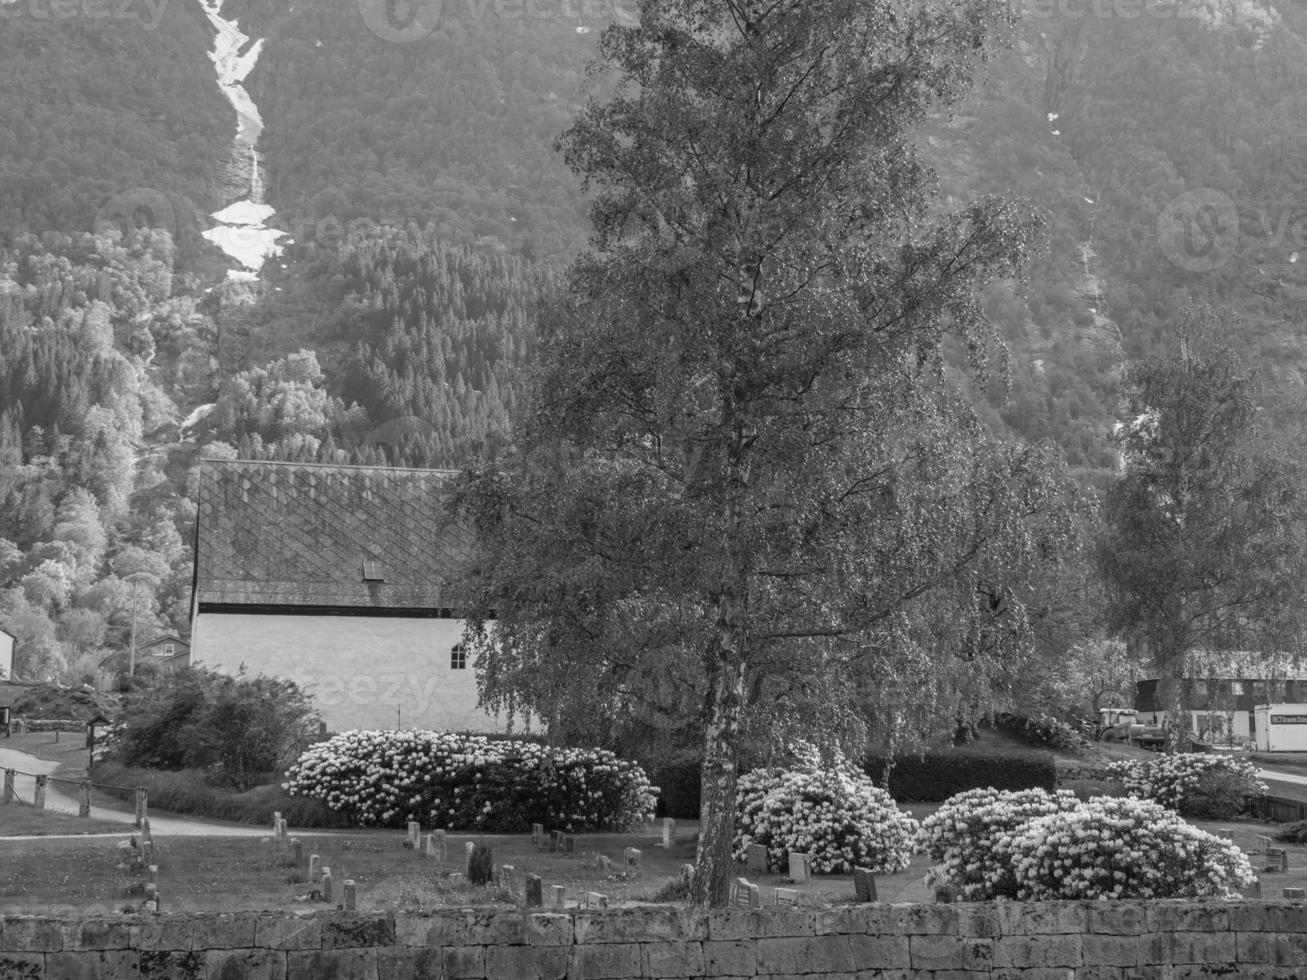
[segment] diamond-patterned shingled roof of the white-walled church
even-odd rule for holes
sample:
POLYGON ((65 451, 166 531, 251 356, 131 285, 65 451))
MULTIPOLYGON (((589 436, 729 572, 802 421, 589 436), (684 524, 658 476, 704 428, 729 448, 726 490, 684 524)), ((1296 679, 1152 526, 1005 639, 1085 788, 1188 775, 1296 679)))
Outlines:
POLYGON ((471 550, 469 532, 444 508, 451 476, 205 460, 195 550, 200 608, 451 606, 450 583, 471 550), (376 563, 371 580, 363 562, 376 563))

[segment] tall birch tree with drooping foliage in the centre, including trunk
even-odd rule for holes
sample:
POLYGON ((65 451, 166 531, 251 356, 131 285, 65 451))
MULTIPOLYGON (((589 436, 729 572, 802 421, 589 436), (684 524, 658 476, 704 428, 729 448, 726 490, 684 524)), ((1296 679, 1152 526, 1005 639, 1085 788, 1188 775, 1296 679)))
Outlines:
POLYGON ((1001 0, 644 0, 561 139, 593 248, 515 455, 460 495, 480 681, 554 732, 693 721, 698 904, 727 900, 745 745, 974 717, 1067 550, 1053 453, 950 383, 1033 221, 946 206, 912 144, 1006 26, 1001 0))

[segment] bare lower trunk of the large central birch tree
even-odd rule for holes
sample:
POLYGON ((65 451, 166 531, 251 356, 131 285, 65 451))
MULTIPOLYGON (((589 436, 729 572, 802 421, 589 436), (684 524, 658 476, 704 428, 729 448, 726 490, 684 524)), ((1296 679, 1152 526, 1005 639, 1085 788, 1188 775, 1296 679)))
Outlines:
MULTIPOLYGON (((723 653, 724 651, 718 651, 723 653)), ((690 900, 721 908, 731 898, 731 848, 735 843, 736 781, 740 720, 744 711, 744 664, 718 660, 708 694, 703 732, 699 847, 695 855, 690 900)))

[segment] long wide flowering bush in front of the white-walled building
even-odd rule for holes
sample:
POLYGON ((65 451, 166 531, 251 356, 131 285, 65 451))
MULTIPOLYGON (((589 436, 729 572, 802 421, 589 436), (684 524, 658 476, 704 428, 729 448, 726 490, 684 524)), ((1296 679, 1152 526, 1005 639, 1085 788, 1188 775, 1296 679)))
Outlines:
POLYGON ((361 826, 481 831, 627 830, 652 819, 657 789, 600 749, 450 732, 345 732, 305 751, 282 785, 361 826))

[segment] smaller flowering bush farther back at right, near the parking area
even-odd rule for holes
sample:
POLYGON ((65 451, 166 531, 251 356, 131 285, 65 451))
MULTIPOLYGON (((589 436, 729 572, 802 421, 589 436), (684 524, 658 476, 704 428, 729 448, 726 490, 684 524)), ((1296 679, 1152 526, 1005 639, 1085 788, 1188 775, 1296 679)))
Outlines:
POLYGON ((1146 762, 1120 759, 1107 771, 1132 796, 1170 806, 1184 817, 1227 819, 1242 809, 1243 797, 1266 792, 1251 762, 1229 755, 1178 753, 1146 762))

